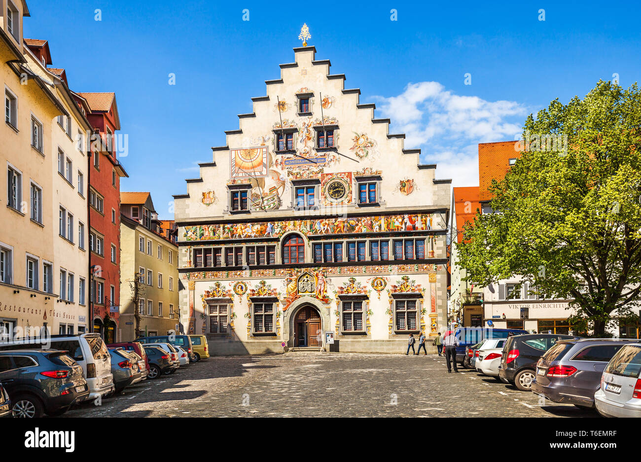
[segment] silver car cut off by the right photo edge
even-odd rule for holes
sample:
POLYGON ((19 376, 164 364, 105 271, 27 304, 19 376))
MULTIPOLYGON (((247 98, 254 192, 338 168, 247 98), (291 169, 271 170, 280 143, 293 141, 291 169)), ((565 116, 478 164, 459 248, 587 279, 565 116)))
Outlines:
POLYGON ((610 359, 594 393, 597 411, 606 417, 641 417, 640 372, 641 343, 624 345, 610 359))

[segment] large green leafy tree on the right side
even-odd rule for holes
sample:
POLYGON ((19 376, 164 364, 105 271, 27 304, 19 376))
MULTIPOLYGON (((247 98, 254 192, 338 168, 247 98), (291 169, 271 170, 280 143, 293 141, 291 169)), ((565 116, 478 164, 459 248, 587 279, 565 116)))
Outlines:
POLYGON ((520 275, 540 295, 574 299, 574 328, 604 336, 631 320, 641 291, 637 84, 599 81, 583 99, 555 99, 529 115, 520 148, 490 186, 499 213, 464 227, 458 263, 470 281, 520 275))

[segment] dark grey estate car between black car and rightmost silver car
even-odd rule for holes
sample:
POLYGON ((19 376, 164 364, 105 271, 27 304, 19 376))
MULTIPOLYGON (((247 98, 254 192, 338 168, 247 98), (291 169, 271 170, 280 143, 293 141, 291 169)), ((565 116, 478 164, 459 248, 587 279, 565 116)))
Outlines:
POLYGON ((538 360, 532 391, 552 402, 594 408, 594 393, 610 359, 638 340, 583 338, 560 340, 538 360))

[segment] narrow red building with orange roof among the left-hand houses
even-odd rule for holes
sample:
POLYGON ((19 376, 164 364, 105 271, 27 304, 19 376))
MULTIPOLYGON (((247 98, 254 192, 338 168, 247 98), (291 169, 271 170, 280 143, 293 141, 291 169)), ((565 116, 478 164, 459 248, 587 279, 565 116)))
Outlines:
POLYGON ((79 93, 91 112, 94 128, 89 173, 89 247, 92 331, 108 342, 119 339, 120 304, 120 179, 128 176, 117 158, 115 132, 121 128, 113 93, 79 93))

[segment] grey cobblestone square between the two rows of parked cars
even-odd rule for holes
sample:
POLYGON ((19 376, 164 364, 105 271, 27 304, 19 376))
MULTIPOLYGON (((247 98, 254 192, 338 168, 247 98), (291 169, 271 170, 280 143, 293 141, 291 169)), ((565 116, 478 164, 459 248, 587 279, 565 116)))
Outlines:
POLYGON ((460 371, 436 355, 213 357, 64 417, 598 417, 460 371))

